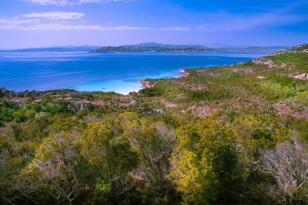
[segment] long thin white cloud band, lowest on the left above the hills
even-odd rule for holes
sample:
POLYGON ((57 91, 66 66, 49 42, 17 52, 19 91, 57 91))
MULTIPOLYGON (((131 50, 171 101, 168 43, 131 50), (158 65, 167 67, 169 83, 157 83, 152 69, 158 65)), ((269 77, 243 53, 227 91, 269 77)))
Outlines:
POLYGON ((41 25, 33 25, 29 27, 23 27, 18 25, 0 25, 0 30, 21 30, 21 31, 38 31, 38 30, 97 30, 97 31, 123 31, 123 30, 146 30, 149 28, 143 27, 129 27, 129 26, 121 26, 121 27, 101 27, 101 26, 85 26, 85 25, 63 25, 63 24, 41 24, 41 25))

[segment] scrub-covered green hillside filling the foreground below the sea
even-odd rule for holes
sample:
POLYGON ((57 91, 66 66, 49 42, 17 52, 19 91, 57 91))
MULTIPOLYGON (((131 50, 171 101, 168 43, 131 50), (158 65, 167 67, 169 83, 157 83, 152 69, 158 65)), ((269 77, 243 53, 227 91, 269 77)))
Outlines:
POLYGON ((0 88, 0 203, 307 204, 307 49, 129 95, 0 88))

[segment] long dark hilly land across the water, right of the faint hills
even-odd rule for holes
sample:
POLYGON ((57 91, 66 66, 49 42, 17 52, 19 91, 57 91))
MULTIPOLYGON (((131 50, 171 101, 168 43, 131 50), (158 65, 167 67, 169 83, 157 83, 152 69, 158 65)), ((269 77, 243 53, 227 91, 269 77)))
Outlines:
POLYGON ((165 45, 157 43, 143 43, 133 46, 102 47, 94 49, 90 53, 122 53, 122 52, 167 52, 167 53, 208 53, 208 52, 276 52, 286 49, 284 46, 258 47, 248 46, 245 48, 226 47, 226 48, 208 48, 205 46, 186 46, 186 45, 165 45))

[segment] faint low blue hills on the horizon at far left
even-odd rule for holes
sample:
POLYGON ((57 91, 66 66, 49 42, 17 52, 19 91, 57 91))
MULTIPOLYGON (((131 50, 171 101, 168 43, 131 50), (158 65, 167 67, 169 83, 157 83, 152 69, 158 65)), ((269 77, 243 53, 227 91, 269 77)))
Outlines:
POLYGON ((55 46, 55 47, 40 47, 40 48, 25 48, 15 50, 0 50, 0 52, 64 52, 64 51, 91 51, 98 49, 100 46, 55 46))

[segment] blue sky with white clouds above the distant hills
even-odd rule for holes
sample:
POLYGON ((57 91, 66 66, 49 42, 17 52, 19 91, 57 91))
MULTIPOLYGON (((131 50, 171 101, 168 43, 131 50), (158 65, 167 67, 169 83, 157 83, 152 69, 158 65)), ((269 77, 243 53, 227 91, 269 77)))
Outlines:
POLYGON ((0 0, 0 49, 308 43, 308 0, 0 0))

